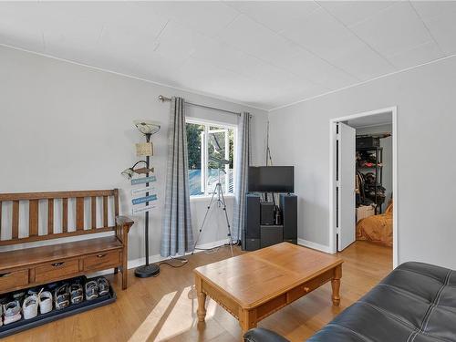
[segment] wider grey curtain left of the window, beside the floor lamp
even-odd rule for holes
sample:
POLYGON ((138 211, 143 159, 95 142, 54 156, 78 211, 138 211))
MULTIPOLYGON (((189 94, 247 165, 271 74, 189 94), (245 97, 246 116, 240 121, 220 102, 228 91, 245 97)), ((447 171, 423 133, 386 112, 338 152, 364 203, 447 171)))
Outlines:
POLYGON ((160 254, 184 254, 191 252, 192 248, 185 101, 183 98, 173 97, 168 132, 168 165, 160 254))

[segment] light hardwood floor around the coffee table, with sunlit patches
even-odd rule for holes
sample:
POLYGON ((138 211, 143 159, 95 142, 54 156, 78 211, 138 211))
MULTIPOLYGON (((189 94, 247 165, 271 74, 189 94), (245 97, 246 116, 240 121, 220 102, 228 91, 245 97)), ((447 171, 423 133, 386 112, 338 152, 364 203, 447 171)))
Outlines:
MULTIPOLYGON (((241 253, 236 248, 235 254, 241 253)), ((304 341, 392 269, 389 247, 358 241, 340 255, 345 261, 340 306, 332 306, 328 283, 265 318, 259 326, 291 341, 304 341)), ((120 289, 120 275, 109 275, 118 294, 116 303, 38 326, 4 341, 240 341, 237 320, 212 300, 208 300, 206 323, 198 324, 197 299, 192 291, 193 268, 229 256, 227 248, 213 254, 194 254, 181 268, 162 265, 161 275, 156 278, 135 278, 130 270, 130 285, 124 291, 120 289)))

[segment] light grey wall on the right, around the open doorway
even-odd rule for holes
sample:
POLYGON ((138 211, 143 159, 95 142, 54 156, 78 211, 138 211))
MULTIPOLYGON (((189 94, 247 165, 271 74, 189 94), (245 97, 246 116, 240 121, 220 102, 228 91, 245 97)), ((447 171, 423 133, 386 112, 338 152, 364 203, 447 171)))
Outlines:
POLYGON ((456 268, 455 79, 452 57, 270 112, 275 164, 295 165, 300 238, 329 244, 329 119, 398 106, 399 262, 456 268))

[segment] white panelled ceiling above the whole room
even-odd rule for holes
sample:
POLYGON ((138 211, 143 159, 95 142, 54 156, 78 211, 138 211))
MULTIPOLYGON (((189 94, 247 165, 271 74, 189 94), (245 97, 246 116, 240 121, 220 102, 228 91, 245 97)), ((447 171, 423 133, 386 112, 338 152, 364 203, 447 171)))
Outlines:
POLYGON ((1 2, 0 44, 273 109, 456 54, 456 2, 1 2))

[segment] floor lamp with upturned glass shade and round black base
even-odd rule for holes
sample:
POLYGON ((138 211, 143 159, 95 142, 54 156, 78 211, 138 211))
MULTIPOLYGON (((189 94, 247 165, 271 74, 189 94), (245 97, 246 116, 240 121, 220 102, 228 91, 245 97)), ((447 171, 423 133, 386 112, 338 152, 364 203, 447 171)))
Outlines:
MULTIPOLYGON (((134 174, 145 174, 149 177, 150 172, 153 172, 153 168, 150 168, 150 156, 153 155, 153 146, 150 142, 152 134, 157 133, 160 130, 160 125, 147 121, 147 120, 135 120, 135 126, 144 136, 146 137, 146 143, 137 144, 137 155, 145 156, 145 161, 137 161, 132 167, 122 172, 122 175, 131 179, 134 174), (144 163, 143 168, 135 169, 140 163, 144 163)), ((146 188, 149 187, 149 182, 146 182, 146 188)), ((146 197, 149 196, 149 192, 146 192, 146 197)), ((149 202, 146 202, 146 206, 149 202)), ((149 210, 144 212, 144 239, 146 244, 146 264, 143 264, 135 269, 135 275, 140 278, 147 278, 150 276, 159 275, 160 267, 158 264, 149 263, 149 210)))

